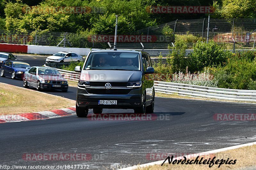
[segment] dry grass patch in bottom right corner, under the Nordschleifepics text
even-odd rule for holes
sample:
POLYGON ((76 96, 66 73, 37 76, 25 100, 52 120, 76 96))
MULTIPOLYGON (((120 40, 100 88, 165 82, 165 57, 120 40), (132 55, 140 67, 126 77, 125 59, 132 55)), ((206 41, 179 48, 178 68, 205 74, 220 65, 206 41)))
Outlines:
MULTIPOLYGON (((230 161, 231 159, 235 160, 236 159, 236 164, 234 165, 228 165, 228 164, 222 164, 220 165, 220 167, 218 168, 219 164, 214 164, 211 168, 209 168, 209 164, 207 165, 196 165, 196 164, 192 164, 192 165, 185 165, 185 164, 168 164, 168 160, 166 161, 167 163, 164 164, 163 166, 161 165, 154 165, 154 166, 149 166, 146 167, 146 170, 171 170, 171 169, 175 169, 175 170, 190 170, 190 169, 200 169, 200 170, 226 170, 226 169, 242 169, 242 168, 250 168, 250 167, 255 167, 256 166, 256 162, 254 160, 254 158, 256 157, 256 145, 252 145, 252 146, 245 146, 245 147, 241 147, 238 149, 233 149, 233 150, 228 150, 228 151, 224 151, 224 152, 218 152, 215 154, 211 154, 209 155, 205 155, 202 156, 204 157, 204 159, 209 159, 213 157, 216 157, 214 160, 216 161, 217 159, 225 159, 228 161, 230 161)), ((202 158, 200 157, 200 158, 202 158)), ((199 158, 199 160, 200 160, 199 158)), ((196 159, 195 158, 188 158, 190 160, 192 159, 196 159)), ((187 159, 187 160, 188 160, 187 159)), ((234 162, 234 161, 233 161, 234 162)))

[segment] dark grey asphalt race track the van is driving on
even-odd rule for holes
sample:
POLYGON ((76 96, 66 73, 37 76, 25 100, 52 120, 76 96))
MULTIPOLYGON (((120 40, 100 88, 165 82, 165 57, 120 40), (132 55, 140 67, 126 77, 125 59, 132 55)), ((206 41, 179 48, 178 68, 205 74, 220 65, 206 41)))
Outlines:
MULTIPOLYGON (((0 82, 22 86, 22 81, 11 78, 1 77, 0 82)), ((75 87, 69 87, 67 93, 47 93, 73 100, 76 98, 75 87)), ((181 156, 255 142, 254 121, 216 121, 213 118, 217 113, 245 114, 255 111, 256 105, 250 103, 156 97, 155 113, 148 121, 93 119, 90 110, 88 118, 73 115, 2 123, 0 164, 89 165, 89 169, 110 169, 113 164, 133 166, 159 160, 149 157, 150 153, 181 156), (33 153, 84 153, 87 157, 86 160, 75 161, 29 161, 24 157, 33 153)), ((133 110, 105 109, 103 112, 133 113, 133 110)))

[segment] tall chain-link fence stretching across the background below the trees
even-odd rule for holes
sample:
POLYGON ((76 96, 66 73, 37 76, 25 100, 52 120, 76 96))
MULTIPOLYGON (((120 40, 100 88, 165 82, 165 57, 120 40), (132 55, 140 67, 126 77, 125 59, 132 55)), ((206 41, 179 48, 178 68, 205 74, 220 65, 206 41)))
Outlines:
MULTIPOLYGON (((175 20, 158 26, 147 27, 127 35, 118 35, 117 48, 167 49, 174 37, 193 35, 187 38, 188 49, 193 49, 196 41, 206 41, 208 18, 175 20), (172 29, 172 35, 164 35, 164 27, 172 29), (143 37, 145 36, 145 37, 143 37), (149 38, 148 38, 149 37, 149 38), (126 40, 127 39, 127 40, 126 40)), ((215 41, 225 49, 255 49, 256 19, 210 19, 209 41, 215 41), (248 39, 248 33, 249 39, 248 39), (247 38, 246 38, 247 37, 247 38)), ((10 31, 0 29, 0 43, 30 44, 76 48, 113 47, 113 35, 89 35, 86 33, 60 33, 50 31, 10 31)), ((175 44, 175 43, 174 43, 175 44)))

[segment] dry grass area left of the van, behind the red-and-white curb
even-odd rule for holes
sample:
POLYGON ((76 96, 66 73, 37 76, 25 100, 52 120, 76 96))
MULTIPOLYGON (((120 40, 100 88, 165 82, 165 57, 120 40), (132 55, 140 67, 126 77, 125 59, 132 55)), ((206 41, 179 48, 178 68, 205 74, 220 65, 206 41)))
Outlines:
POLYGON ((33 113, 66 108, 76 101, 0 83, 0 115, 33 113))

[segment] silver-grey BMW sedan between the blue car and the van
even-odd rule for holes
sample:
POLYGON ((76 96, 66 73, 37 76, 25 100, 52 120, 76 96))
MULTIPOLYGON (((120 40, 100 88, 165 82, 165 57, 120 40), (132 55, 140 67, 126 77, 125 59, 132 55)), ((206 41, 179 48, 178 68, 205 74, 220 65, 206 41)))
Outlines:
POLYGON ((42 89, 68 91, 68 81, 58 70, 51 67, 31 67, 24 73, 23 81, 23 87, 36 87, 37 91, 42 89))

